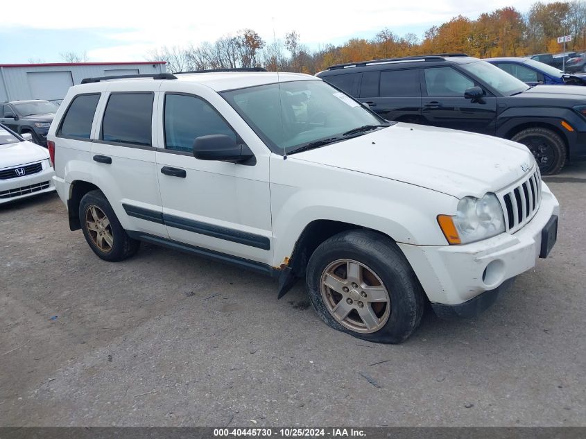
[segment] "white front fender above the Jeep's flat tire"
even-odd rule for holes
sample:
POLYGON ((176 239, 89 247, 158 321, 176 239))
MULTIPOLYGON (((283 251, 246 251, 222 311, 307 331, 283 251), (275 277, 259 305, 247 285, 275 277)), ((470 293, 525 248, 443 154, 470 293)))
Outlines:
POLYGON ((458 200, 453 196, 327 166, 309 166, 298 175, 303 178, 296 185, 271 183, 273 266, 281 266, 291 257, 305 227, 316 220, 377 230, 401 243, 447 244, 436 218, 455 214, 458 200), (313 171, 319 172, 319 178, 311 178, 313 171), (316 182, 320 183, 317 187, 316 182))

